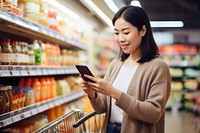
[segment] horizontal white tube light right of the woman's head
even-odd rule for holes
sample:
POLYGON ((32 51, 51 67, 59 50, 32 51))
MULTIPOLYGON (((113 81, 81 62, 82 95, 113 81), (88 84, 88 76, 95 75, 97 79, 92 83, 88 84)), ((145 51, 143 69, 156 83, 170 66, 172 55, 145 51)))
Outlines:
POLYGON ((183 27, 184 23, 182 21, 151 21, 152 28, 159 28, 159 27, 183 27))

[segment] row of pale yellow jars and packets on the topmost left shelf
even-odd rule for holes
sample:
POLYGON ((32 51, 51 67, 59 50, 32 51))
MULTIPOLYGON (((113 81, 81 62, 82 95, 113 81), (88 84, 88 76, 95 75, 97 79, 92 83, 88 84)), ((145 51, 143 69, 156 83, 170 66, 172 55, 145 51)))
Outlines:
POLYGON ((74 25, 62 12, 45 0, 0 0, 0 9, 48 27, 73 40, 86 43, 86 35, 81 27, 74 25))

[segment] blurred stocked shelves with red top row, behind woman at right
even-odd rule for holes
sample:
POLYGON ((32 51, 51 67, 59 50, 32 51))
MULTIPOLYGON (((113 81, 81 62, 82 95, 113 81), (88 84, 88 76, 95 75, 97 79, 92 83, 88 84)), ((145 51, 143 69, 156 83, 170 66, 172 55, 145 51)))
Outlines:
POLYGON ((159 49, 172 76, 171 106, 175 104, 181 110, 191 110, 194 104, 192 99, 198 99, 200 90, 199 46, 174 44, 163 45, 159 49))

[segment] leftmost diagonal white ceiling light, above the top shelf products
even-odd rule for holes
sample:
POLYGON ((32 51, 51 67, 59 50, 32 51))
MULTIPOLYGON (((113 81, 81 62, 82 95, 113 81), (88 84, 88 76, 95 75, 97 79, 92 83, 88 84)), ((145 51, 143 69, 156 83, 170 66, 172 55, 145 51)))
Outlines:
POLYGON ((66 8, 64 5, 60 4, 59 2, 57 2, 56 0, 46 0, 47 3, 49 3, 50 5, 52 5, 53 7, 55 7, 56 9, 62 11, 64 14, 66 14, 67 16, 75 19, 75 20, 79 20, 80 17, 75 14, 74 12, 72 12, 71 10, 69 10, 68 8, 66 8))

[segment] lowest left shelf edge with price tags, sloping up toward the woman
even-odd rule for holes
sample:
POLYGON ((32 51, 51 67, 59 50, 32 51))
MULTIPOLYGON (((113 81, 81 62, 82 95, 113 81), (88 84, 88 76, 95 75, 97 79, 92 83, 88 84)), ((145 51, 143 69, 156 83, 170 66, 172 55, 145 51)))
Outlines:
POLYGON ((5 114, 0 115, 0 128, 21 121, 25 118, 34 116, 58 105, 71 102, 84 96, 85 93, 82 90, 72 92, 70 94, 58 96, 53 99, 49 99, 43 102, 39 102, 18 110, 14 110, 5 114))

